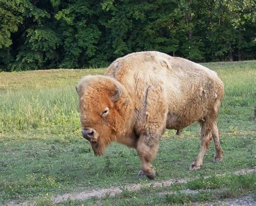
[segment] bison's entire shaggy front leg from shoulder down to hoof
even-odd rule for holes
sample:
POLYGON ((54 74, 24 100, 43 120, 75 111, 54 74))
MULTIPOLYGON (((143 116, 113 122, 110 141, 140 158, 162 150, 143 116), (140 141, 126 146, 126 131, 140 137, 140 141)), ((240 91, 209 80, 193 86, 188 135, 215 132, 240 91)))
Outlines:
POLYGON ((147 176, 151 180, 156 177, 151 161, 157 154, 158 142, 166 127, 167 104, 161 83, 147 87, 140 122, 136 131, 139 135, 137 152, 142 163, 142 171, 138 177, 147 176))

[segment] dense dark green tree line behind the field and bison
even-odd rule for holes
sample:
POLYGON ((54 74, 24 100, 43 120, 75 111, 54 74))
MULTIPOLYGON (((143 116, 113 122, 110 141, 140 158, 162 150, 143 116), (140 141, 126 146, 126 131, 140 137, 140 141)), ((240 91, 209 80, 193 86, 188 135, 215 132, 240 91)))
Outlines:
POLYGON ((0 0, 0 70, 104 67, 138 51, 256 57, 254 0, 0 0))

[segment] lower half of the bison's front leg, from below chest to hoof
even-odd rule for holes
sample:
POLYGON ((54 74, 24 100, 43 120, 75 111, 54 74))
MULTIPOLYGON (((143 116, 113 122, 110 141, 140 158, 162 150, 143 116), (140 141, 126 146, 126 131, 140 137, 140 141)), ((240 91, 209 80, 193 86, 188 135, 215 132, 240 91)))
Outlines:
POLYGON ((153 178, 156 177, 156 171, 154 171, 154 168, 150 162, 157 154, 158 139, 159 138, 157 136, 140 135, 137 144, 137 152, 142 163, 142 170, 139 171, 137 178, 147 176, 153 180, 153 178))

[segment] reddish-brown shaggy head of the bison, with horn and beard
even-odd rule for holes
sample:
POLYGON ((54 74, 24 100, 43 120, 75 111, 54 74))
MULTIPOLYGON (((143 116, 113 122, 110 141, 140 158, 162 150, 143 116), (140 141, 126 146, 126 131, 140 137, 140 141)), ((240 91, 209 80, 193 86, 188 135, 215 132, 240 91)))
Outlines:
POLYGON ((95 155, 103 155, 110 142, 125 133, 132 115, 126 88, 102 75, 86 76, 76 87, 79 95, 83 137, 90 141, 95 155))

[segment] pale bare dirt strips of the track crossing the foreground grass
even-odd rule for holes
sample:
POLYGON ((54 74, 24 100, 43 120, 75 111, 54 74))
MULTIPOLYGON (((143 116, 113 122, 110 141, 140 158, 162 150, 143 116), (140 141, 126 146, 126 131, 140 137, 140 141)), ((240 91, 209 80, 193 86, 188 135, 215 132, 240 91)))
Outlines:
MULTIPOLYGON (((235 171, 234 173, 230 173, 230 174, 245 175, 245 174, 254 173, 254 172, 255 172, 255 169, 250 168, 250 169, 242 169, 239 171, 235 171)), ((224 175, 228 175, 228 174, 224 174, 224 175)), ((223 175, 217 175, 217 176, 223 176, 223 175)), ((196 179, 196 178, 198 178, 198 177, 194 177, 194 179, 196 179)), ((176 183, 184 184, 188 181, 190 181, 188 178, 184 178, 184 179, 180 179, 180 180, 170 179, 170 180, 166 180, 166 181, 158 181, 158 182, 152 182, 152 183, 147 183, 147 184, 126 184, 124 188, 110 187, 110 188, 104 188, 104 189, 85 190, 80 193, 66 193, 63 195, 56 195, 51 198, 51 201, 53 203, 60 203, 60 202, 68 201, 68 200, 87 200, 88 198, 92 198, 92 197, 100 198, 105 195, 114 196, 114 195, 122 193, 122 191, 124 191, 124 190, 138 191, 142 188, 147 188, 147 187, 152 187, 152 188, 169 187, 172 184, 176 184, 176 183)), ((196 190, 184 190, 184 193, 197 193, 197 191, 196 190)), ((162 195, 164 195, 164 193, 162 195)), ((240 200, 244 200, 244 198, 239 198, 237 200, 232 200, 232 201, 239 202, 240 200)), ((253 199, 252 199, 252 201, 253 201, 253 199)), ((221 201, 218 201, 218 202, 221 202, 221 201)), ((223 201, 223 202, 225 203, 225 201, 223 201)), ((251 202, 251 199, 250 199, 250 201, 248 201, 247 205, 255 205, 255 202, 254 202, 254 204, 249 204, 250 202, 251 202)), ((230 205, 229 203, 226 203, 226 204, 224 204, 224 203, 223 203, 223 205, 226 205, 226 204, 230 205)), ((215 205, 215 204, 216 203, 214 203, 214 204, 207 203, 206 205, 215 205)), ((222 203, 218 203, 217 205, 221 205, 221 204, 222 203)), ((35 205, 35 202, 33 202, 33 201, 25 201, 22 203, 9 202, 9 203, 5 203, 5 205, 8 205, 8 206, 35 205)), ((240 204, 238 203, 238 204, 233 204, 233 205, 240 205, 240 204)), ((242 204, 242 205, 244 205, 244 204, 242 204)))

